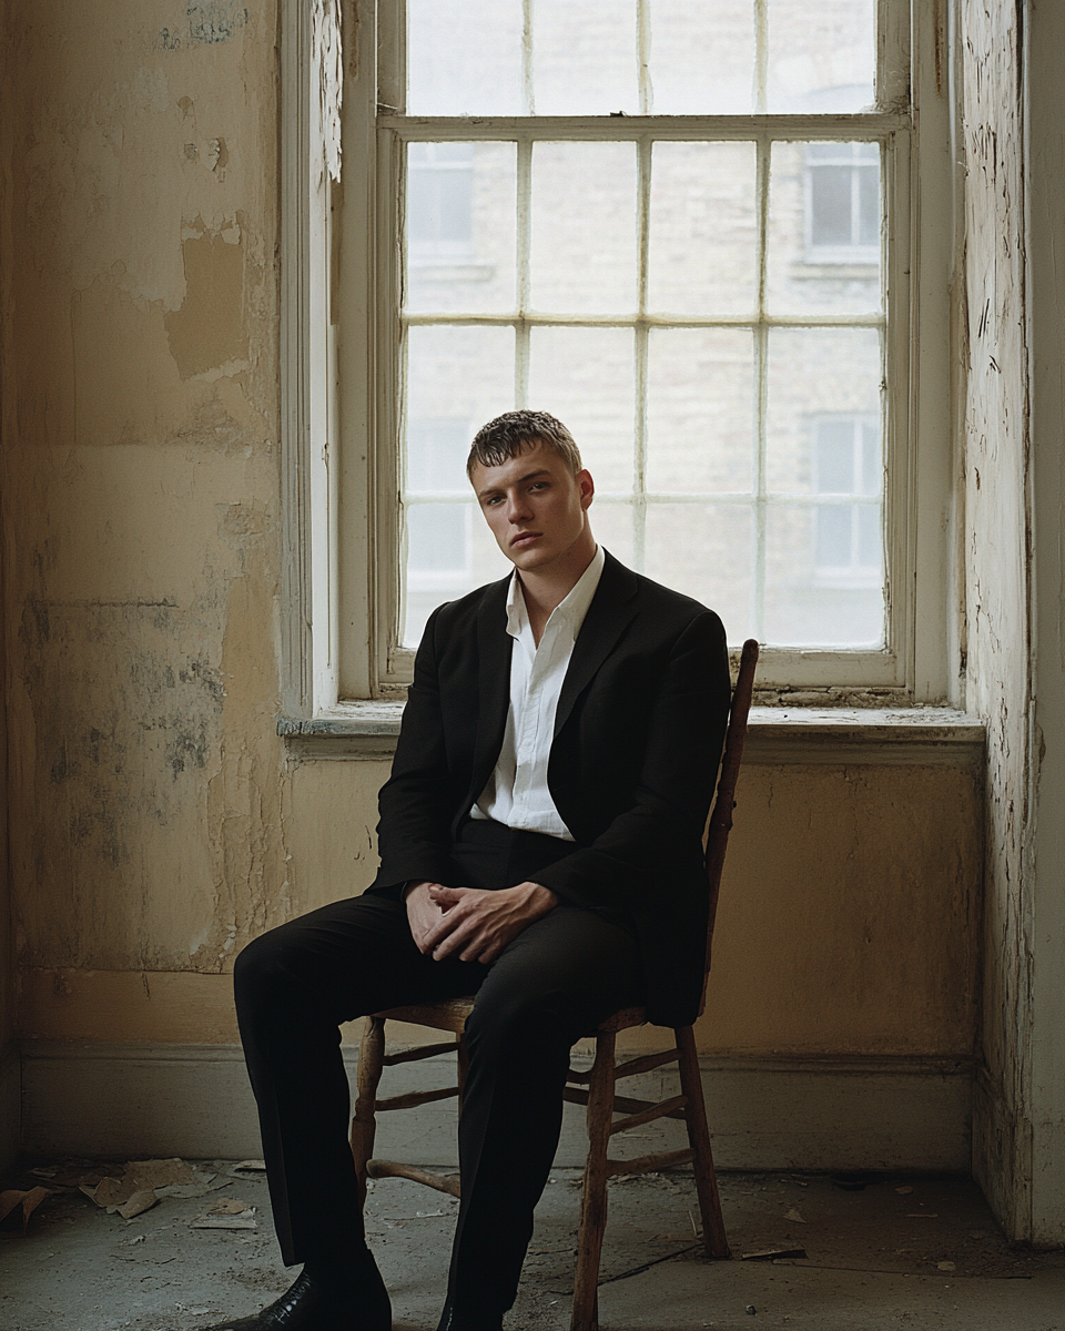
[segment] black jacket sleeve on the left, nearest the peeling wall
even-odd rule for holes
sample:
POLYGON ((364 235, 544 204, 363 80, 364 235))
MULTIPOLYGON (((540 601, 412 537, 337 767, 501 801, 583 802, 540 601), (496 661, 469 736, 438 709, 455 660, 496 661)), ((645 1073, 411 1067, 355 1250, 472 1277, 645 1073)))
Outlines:
POLYGON ((378 796, 381 869, 370 892, 389 896, 410 878, 447 882, 450 857, 450 777, 443 741, 433 611, 414 659, 391 776, 378 796))

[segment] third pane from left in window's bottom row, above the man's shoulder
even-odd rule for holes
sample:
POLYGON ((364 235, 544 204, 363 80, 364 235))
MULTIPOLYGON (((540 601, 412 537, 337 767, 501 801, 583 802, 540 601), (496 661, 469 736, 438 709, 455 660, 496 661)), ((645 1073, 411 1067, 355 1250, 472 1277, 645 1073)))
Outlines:
POLYGON ((751 510, 746 504, 652 503, 644 572, 716 610, 728 640, 751 623, 751 510))

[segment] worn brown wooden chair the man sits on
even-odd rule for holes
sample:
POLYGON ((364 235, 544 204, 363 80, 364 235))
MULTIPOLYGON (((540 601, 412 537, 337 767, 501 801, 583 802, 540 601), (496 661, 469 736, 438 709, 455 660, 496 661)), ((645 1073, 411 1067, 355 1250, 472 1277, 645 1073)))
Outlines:
MULTIPOLYGON (((707 930, 707 973, 710 972, 710 952, 714 938, 714 916, 718 906, 718 893, 724 865, 724 852, 728 833, 732 828, 734 792, 739 775, 743 743, 747 732, 747 713, 751 709, 755 666, 757 664, 757 643, 752 639, 743 644, 739 677, 732 692, 732 705, 728 716, 724 757, 718 781, 714 807, 710 813, 707 833, 707 877, 710 880, 710 926, 707 930)), ((706 1006, 706 978, 699 1013, 706 1006)), ((358 1081, 354 1119, 351 1122, 351 1151, 358 1173, 359 1205, 366 1201, 367 1178, 407 1178, 425 1183, 451 1197, 461 1195, 458 1174, 430 1174, 414 1165, 401 1165, 395 1161, 373 1159, 377 1113, 391 1109, 413 1109, 435 1099, 459 1098, 462 1110, 462 1085, 466 1073, 466 1058, 462 1033, 466 1018, 473 1012, 473 998, 454 998, 447 1002, 421 1004, 410 1008, 391 1008, 366 1018, 366 1032, 362 1037, 358 1058, 358 1081), (397 1054, 385 1053, 385 1022, 407 1021, 418 1026, 431 1026, 434 1030, 449 1030, 454 1041, 422 1045, 397 1054), (437 1054, 458 1053, 458 1085, 443 1090, 414 1091, 406 1095, 377 1098, 377 1087, 385 1067, 397 1063, 433 1058, 437 1054)), ((695 1034, 691 1026, 674 1030, 672 1049, 655 1054, 615 1062, 618 1032, 630 1026, 642 1026, 647 1021, 643 1008, 627 1008, 604 1021, 595 1032, 595 1061, 587 1073, 570 1069, 563 1098, 576 1105, 587 1106, 588 1155, 584 1165, 583 1195, 580 1205, 580 1230, 576 1242, 576 1279, 574 1284, 574 1310, 571 1331, 598 1331, 598 1280, 599 1255, 603 1246, 603 1230, 607 1218, 607 1179, 615 1174, 646 1174, 651 1170, 667 1169, 671 1165, 692 1162, 695 1189, 699 1197, 699 1210, 703 1218, 702 1240, 708 1256, 728 1258, 728 1238, 722 1219, 722 1203, 718 1197, 718 1182, 714 1175, 714 1159, 710 1150, 710 1130, 703 1099, 703 1083, 699 1075, 699 1061, 695 1051, 695 1034), (615 1094, 616 1082, 624 1077, 651 1071, 666 1063, 676 1062, 680 1073, 680 1094, 654 1103, 615 1094), (583 1089, 587 1087, 587 1089, 583 1089), (615 1119, 615 1114, 623 1118, 615 1119), (630 1127, 650 1123, 656 1118, 680 1118, 688 1131, 688 1146, 678 1151, 655 1151, 639 1159, 614 1161, 607 1157, 610 1138, 630 1127)))

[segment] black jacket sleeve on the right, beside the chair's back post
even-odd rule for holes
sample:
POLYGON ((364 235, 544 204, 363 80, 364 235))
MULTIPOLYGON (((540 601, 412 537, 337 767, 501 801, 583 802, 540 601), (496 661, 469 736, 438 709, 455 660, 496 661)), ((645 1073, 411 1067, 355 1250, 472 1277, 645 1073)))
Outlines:
POLYGON ((670 866, 700 862, 730 700, 724 627, 706 611, 670 652, 631 805, 591 845, 538 872, 536 882, 592 908, 632 909, 674 890, 670 866))

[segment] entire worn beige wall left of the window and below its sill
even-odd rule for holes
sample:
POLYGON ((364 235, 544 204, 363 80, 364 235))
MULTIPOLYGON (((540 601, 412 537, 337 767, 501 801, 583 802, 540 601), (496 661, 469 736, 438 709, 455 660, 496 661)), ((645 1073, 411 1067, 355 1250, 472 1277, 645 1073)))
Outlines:
MULTIPOLYGON (((276 12, 8 8, 23 1028, 228 1042, 241 945, 373 876, 385 776, 274 735, 276 12)), ((980 797, 945 764, 751 767, 703 1047, 970 1054, 980 797)))

